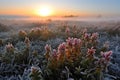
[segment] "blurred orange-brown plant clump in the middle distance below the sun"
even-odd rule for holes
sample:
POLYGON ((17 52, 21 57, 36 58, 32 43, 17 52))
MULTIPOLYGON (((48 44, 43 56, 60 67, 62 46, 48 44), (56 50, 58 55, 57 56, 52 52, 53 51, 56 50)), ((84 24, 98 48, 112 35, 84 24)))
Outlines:
POLYGON ((25 37, 29 37, 30 40, 37 40, 37 39, 48 40, 50 38, 55 37, 55 34, 46 26, 43 26, 43 27, 33 28, 28 32, 21 30, 19 31, 18 36, 22 40, 24 40, 25 37))

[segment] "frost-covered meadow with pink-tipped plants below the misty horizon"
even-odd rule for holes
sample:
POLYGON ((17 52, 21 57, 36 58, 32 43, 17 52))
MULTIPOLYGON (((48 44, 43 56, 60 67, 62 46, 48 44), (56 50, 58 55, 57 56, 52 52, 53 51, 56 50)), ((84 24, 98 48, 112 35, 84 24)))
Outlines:
POLYGON ((119 80, 120 21, 0 20, 0 80, 119 80))

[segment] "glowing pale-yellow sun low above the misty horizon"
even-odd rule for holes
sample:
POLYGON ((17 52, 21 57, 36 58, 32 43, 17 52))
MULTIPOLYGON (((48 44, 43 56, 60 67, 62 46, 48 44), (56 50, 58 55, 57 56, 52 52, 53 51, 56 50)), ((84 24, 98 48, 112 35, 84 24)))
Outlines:
POLYGON ((52 15, 52 10, 48 6, 41 7, 38 10, 38 15, 41 16, 41 17, 51 16, 52 15))

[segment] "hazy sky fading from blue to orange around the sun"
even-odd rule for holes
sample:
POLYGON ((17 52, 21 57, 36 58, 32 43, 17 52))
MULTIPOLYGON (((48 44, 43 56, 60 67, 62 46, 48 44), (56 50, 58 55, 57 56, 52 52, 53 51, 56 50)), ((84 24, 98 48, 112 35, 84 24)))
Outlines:
POLYGON ((0 0, 0 14, 35 15, 44 5, 54 15, 120 16, 120 0, 0 0))

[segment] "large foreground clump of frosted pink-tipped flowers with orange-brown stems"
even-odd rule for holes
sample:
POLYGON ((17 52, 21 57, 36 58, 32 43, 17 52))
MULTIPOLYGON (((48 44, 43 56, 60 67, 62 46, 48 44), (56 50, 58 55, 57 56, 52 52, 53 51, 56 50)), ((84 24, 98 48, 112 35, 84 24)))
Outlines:
POLYGON ((102 80, 102 73, 107 69, 112 51, 98 51, 97 38, 98 33, 84 33, 81 39, 68 38, 57 50, 52 50, 47 44, 46 67, 42 70, 44 76, 41 76, 49 80, 102 80))

